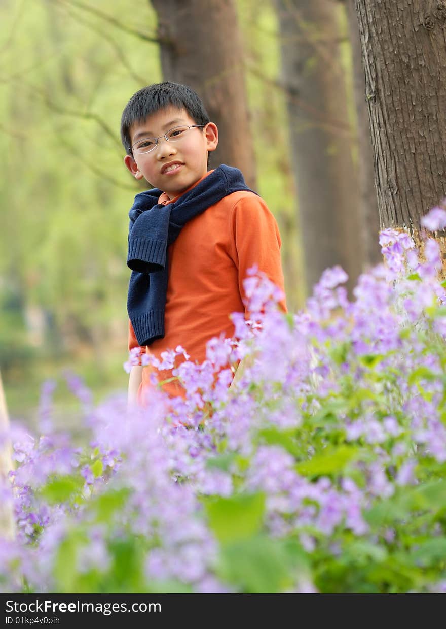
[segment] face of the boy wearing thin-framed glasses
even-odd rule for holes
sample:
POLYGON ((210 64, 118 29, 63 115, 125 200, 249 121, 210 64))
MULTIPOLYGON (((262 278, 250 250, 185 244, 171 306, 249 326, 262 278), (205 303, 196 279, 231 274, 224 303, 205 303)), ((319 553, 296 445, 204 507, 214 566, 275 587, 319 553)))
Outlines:
POLYGON ((170 199, 175 198, 207 173, 207 153, 217 148, 218 131, 214 123, 208 123, 186 131, 178 142, 160 136, 176 126, 195 124, 185 109, 172 106, 152 114, 144 123, 135 123, 130 130, 132 145, 149 137, 159 138, 158 145, 149 153, 126 155, 124 164, 136 179, 145 177, 170 199))

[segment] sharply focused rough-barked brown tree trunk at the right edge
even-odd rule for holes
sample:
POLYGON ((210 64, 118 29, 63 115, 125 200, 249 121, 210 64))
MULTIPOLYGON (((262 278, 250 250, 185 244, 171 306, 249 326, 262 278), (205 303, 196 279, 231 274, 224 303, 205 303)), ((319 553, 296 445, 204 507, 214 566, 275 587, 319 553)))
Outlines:
POLYGON ((446 195, 446 3, 356 0, 383 227, 416 237, 446 195))

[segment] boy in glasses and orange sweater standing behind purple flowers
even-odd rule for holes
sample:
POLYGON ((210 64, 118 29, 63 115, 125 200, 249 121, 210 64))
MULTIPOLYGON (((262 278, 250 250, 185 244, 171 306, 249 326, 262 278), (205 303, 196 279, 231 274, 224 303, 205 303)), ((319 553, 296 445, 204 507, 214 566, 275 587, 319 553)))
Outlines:
MULTIPOLYGON (((245 311, 249 267, 283 290, 278 226, 239 170, 207 170, 218 130, 190 87, 163 82, 136 92, 122 113, 121 138, 128 170, 155 187, 137 194, 129 212, 129 350, 160 357, 182 345, 202 362, 207 341, 231 337, 229 315, 245 311)), ((281 305, 286 310, 285 299, 281 305)), ((132 367, 130 402, 144 404, 150 373, 132 367)), ((163 390, 183 391, 176 381, 163 390)))

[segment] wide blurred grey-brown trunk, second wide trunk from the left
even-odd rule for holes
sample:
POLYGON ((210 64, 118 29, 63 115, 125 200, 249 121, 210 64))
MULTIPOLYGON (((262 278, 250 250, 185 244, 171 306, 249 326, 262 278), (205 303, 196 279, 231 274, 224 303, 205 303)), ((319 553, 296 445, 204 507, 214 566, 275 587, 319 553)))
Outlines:
POLYGON ((352 287, 362 256, 339 62, 339 6, 332 0, 276 0, 276 5, 307 292, 335 264, 347 271, 352 287))

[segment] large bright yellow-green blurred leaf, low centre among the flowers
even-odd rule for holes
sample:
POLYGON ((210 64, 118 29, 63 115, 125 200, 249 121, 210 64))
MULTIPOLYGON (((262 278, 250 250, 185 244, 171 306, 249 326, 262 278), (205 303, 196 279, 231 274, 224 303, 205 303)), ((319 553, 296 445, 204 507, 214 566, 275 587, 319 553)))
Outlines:
POLYGON ((222 543, 255 535, 261 529, 265 509, 262 493, 240 494, 205 501, 209 526, 222 543))

